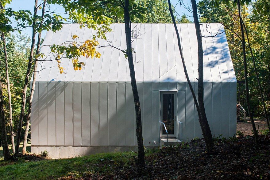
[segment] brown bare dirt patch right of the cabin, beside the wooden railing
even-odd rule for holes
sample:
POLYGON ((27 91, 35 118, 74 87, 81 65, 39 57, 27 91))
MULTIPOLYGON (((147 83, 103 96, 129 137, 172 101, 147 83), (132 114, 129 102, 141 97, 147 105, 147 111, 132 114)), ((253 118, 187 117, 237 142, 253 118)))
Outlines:
MULTIPOLYGON (((256 128, 258 129, 259 128, 259 133, 261 133, 262 130, 265 130, 267 129, 267 123, 266 123, 266 120, 265 119, 254 119, 254 122, 255 122, 255 125, 256 125, 256 128)), ((237 122, 237 125, 236 125, 236 129, 237 131, 240 130, 242 133, 246 135, 252 135, 252 125, 251 125, 251 122, 249 120, 249 118, 247 118, 247 121, 246 122, 237 122)))

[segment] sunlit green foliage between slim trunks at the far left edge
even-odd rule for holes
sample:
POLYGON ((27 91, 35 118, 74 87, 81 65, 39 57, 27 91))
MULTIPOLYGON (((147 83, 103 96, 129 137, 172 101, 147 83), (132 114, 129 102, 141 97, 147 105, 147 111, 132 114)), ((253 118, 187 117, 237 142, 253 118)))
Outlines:
MULTIPOLYGON (((21 111, 21 92, 24 84, 24 78, 26 73, 28 54, 30 50, 30 38, 27 34, 25 35, 12 35, 6 34, 6 47, 8 52, 9 62, 9 78, 10 78, 10 91, 13 108, 13 126, 17 126, 17 122, 21 111)), ((1 44, 2 46, 2 44, 1 44)), ((4 59, 4 52, 1 48, 0 59, 4 59)), ((5 64, 1 63, 1 72, 5 72, 5 64)), ((4 111, 6 119, 9 118, 9 105, 8 105, 8 94, 6 77, 2 74, 2 85, 3 85, 3 98, 4 98, 4 111)), ((27 90, 29 95, 30 91, 27 90)), ((26 111, 25 111, 26 112, 26 111)), ((6 124, 9 129, 9 123, 6 124)), ((8 138, 10 139, 10 138, 8 138)))

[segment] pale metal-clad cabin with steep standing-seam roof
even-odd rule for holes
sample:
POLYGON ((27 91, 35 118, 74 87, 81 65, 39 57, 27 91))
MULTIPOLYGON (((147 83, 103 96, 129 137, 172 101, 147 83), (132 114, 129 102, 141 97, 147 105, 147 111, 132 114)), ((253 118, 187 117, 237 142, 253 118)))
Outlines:
MULTIPOLYGON (((177 24, 189 78, 198 91, 198 47, 194 24, 177 24)), ((173 24, 132 24, 132 46, 141 103, 145 148, 188 142, 202 137, 198 114, 183 71, 173 24)), ((125 25, 111 24, 107 40, 126 49, 125 25)), ((224 27, 203 24, 204 103, 213 137, 236 134, 236 87, 224 27), (222 33, 223 32, 223 33, 222 33), (221 33, 221 34, 220 34, 221 33)), ((65 24, 48 31, 43 45, 61 45, 89 39, 95 30, 65 24)), ((31 114, 32 152, 47 150, 52 158, 137 151, 136 119, 129 66, 124 54, 112 47, 97 49, 100 58, 81 57, 86 66, 75 71, 72 61, 62 59, 60 74, 47 55, 39 62, 31 114)))

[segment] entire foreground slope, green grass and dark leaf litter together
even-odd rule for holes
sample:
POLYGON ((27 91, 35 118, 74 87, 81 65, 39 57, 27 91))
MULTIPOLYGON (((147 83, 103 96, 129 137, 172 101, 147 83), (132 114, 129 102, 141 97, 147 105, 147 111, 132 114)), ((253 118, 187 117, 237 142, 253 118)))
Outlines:
POLYGON ((270 135, 215 139, 206 153, 203 139, 146 150, 146 166, 135 164, 135 152, 95 154, 70 159, 34 155, 0 161, 0 179, 270 179, 270 135))

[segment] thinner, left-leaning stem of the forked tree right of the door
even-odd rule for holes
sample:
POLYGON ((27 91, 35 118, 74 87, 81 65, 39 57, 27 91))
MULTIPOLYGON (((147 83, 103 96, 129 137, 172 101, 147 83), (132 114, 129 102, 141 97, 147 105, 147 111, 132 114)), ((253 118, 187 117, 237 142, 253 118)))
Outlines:
MULTIPOLYGON (((197 112, 198 112, 198 116, 199 116, 200 126, 201 127, 203 126, 202 131, 204 131, 204 130, 207 130, 206 126, 208 125, 208 122, 207 122, 207 119, 206 119, 207 125, 203 124, 204 122, 202 120, 201 110, 200 110, 200 107, 199 107, 199 104, 198 104, 198 101, 197 101, 197 98, 196 98, 194 89, 193 89, 193 87, 191 85, 189 76, 187 74, 187 67, 186 67, 186 63, 185 63, 184 56, 183 56, 183 50, 182 50, 181 43, 180 43, 180 36, 179 36, 179 32, 178 32, 178 29, 177 29, 177 26, 176 26, 176 22, 175 22, 175 18, 174 18, 174 15, 173 15, 173 11, 172 11, 172 6, 171 6, 171 1, 170 0, 168 0, 168 4, 169 4, 169 11, 170 11, 170 14, 172 16, 172 22, 173 22, 173 25, 174 25, 174 28, 175 28, 175 31, 176 31, 178 48, 179 48, 181 60, 182 60, 182 63, 183 63, 184 73, 185 73, 185 76, 187 78, 187 83, 188 83, 188 86, 189 86, 189 88, 191 90, 191 94, 192 94, 192 97, 193 97, 194 102, 195 102, 195 106, 196 106, 196 109, 197 109, 197 112)), ((208 127, 209 127, 209 125, 208 125, 208 127)), ((210 130, 210 128, 209 128, 209 130, 210 130)), ((207 133, 203 133, 204 138, 207 139, 207 140, 209 140, 209 137, 207 136, 208 134, 209 134, 208 132, 207 133)), ((210 134, 211 134, 211 131, 210 131, 210 134)), ((212 135, 211 135, 211 139, 212 139, 212 135)), ((213 141, 213 139, 212 139, 212 141, 213 141)), ((208 141, 206 142, 207 150, 208 151, 211 151, 212 148, 213 148, 213 146, 214 146, 214 143, 213 144, 211 142, 209 144, 207 144, 207 143, 208 143, 208 141)))

